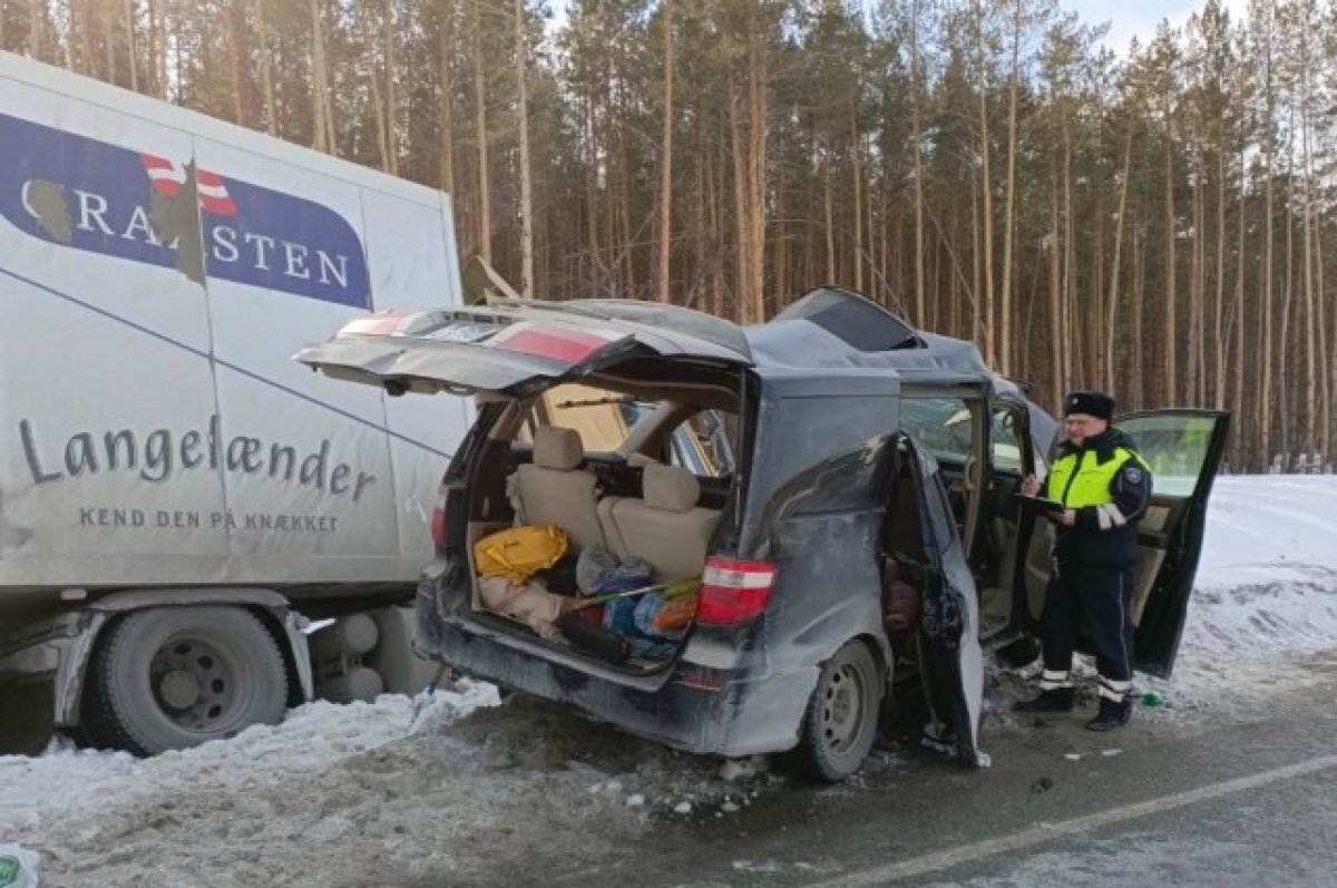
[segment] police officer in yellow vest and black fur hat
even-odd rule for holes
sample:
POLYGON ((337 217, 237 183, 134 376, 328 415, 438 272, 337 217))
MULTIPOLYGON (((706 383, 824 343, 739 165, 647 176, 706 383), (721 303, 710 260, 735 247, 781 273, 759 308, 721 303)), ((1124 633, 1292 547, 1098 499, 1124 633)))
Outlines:
POLYGON ((1099 673, 1100 711, 1091 730, 1127 724, 1132 682, 1132 594, 1138 520, 1151 496, 1151 471, 1132 441, 1110 424, 1114 399, 1072 392, 1063 400, 1067 440, 1042 485, 1027 477, 1021 492, 1056 500, 1054 568, 1042 615, 1044 673, 1040 695, 1023 711, 1072 710, 1072 647, 1082 618, 1091 634, 1099 673))

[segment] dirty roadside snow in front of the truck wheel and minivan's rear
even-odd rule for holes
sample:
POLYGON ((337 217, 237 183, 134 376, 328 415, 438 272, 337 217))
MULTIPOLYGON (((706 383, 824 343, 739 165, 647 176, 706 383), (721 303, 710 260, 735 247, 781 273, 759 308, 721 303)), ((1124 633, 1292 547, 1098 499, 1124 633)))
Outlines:
POLYGON ((499 861, 520 884, 566 843, 595 856, 659 817, 725 816, 769 781, 536 699, 497 706, 489 685, 414 709, 312 703, 151 760, 0 757, 0 841, 40 851, 44 885, 496 884, 499 861))

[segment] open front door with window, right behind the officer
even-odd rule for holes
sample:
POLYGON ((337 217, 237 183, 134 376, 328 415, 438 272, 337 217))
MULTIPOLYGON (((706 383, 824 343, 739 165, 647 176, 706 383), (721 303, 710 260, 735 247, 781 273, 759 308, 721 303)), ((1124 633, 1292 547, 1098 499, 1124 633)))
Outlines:
POLYGON ((1202 554, 1207 496, 1225 452, 1230 415, 1151 411, 1120 416, 1115 425, 1151 467, 1151 503, 1138 526, 1134 661, 1144 673, 1169 677, 1179 653, 1202 554))

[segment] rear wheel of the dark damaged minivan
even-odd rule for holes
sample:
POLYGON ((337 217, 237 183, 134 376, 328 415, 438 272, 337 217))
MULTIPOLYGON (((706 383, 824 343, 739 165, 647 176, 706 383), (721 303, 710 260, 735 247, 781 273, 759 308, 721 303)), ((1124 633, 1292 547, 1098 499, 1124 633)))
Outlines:
POLYGON ((873 748, 882 677, 862 642, 852 641, 822 666, 804 715, 800 756, 818 780, 840 782, 873 748))

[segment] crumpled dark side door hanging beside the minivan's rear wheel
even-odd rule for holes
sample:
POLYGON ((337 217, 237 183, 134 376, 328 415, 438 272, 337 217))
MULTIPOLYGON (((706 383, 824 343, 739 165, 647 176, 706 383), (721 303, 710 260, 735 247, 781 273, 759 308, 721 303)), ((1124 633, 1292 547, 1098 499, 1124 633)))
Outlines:
POLYGON ((984 666, 975 579, 956 532, 937 461, 916 451, 905 435, 900 436, 900 451, 919 496, 924 538, 920 669, 937 722, 929 726, 928 740, 972 764, 983 764, 979 726, 984 666))

